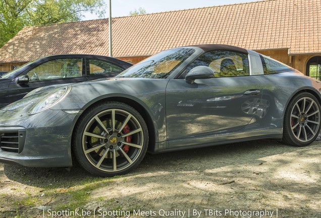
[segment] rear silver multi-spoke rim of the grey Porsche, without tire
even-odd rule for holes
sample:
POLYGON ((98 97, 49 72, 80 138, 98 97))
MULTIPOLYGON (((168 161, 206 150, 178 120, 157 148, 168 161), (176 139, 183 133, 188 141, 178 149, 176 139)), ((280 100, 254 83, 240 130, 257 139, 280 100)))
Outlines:
POLYGON ((296 101, 291 111, 290 126, 295 138, 301 142, 311 140, 320 123, 320 111, 310 97, 302 97, 296 101))

